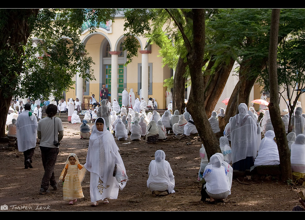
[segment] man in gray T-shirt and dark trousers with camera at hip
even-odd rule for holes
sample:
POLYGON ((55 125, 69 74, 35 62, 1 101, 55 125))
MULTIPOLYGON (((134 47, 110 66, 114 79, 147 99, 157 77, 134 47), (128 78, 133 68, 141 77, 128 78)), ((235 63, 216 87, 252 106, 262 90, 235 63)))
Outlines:
POLYGON ((48 117, 41 119, 37 127, 37 136, 41 140, 40 150, 45 174, 41 180, 39 194, 48 194, 49 183, 54 190, 57 190, 57 182, 54 175, 54 167, 59 152, 59 141, 63 138, 63 124, 60 118, 54 117, 57 113, 57 106, 49 104, 46 113, 48 117))

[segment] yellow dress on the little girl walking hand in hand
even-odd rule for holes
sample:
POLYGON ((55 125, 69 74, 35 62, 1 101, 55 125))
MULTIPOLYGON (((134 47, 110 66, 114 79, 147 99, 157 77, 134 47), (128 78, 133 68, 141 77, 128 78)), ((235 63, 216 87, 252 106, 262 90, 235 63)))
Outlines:
POLYGON ((65 182, 63 183, 63 199, 70 201, 84 198, 78 176, 78 169, 82 169, 82 166, 80 164, 67 164, 65 168, 67 169, 67 175, 65 177, 65 182))

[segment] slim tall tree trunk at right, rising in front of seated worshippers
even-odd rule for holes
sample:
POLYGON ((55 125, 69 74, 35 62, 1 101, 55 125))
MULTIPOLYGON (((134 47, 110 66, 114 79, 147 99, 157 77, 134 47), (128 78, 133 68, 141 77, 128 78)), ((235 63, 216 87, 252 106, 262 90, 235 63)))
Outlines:
POLYGON ((269 82, 270 82, 270 103, 269 112, 274 128, 275 138, 278 145, 280 157, 281 180, 292 179, 290 150, 286 137, 285 125, 281 118, 278 106, 278 74, 277 74, 277 49, 278 49, 278 26, 280 19, 280 9, 272 9, 270 42, 269 42, 269 82))

